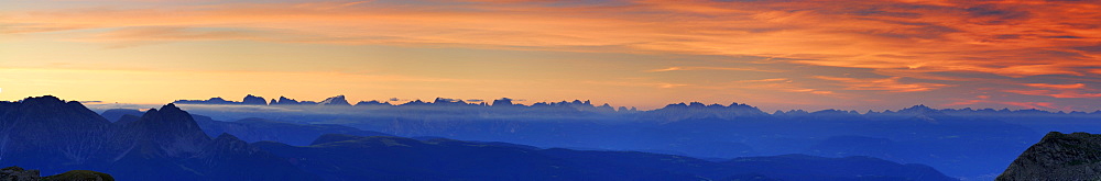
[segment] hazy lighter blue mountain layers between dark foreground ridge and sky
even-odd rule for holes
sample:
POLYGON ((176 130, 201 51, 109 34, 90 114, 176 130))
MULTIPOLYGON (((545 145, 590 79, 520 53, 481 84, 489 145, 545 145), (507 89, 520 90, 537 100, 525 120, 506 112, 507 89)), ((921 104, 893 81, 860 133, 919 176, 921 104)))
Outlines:
MULTIPOLYGON (((404 137, 505 142, 542 148, 634 150, 731 159, 804 154, 869 156, 929 165, 949 176, 990 180, 1047 132, 1101 132, 1101 111, 1009 109, 776 111, 744 103, 675 103, 640 111, 589 101, 517 104, 512 99, 437 98, 352 106, 282 104, 270 110, 194 106, 215 120, 261 117, 297 124, 336 124, 404 137)), ((341 99, 342 100, 342 99, 341 99)), ((293 101, 293 100, 292 100, 293 101)), ((286 101, 286 102, 292 102, 286 101)), ((305 143, 305 142, 299 142, 305 143)), ((294 145, 294 144, 292 144, 294 145)), ((302 146, 302 145, 297 145, 302 146)))

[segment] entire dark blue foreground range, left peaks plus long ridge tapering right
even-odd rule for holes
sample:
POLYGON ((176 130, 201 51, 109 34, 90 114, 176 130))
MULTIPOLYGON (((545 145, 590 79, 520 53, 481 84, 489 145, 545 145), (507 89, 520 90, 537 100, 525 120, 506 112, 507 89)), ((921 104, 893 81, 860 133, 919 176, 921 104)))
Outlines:
POLYGON ((196 121, 201 116, 174 104, 140 112, 141 116, 133 113, 139 112, 105 112, 117 117, 112 123, 79 102, 48 95, 0 102, 0 163, 40 168, 47 173, 96 170, 119 180, 953 180, 927 166, 869 157, 775 156, 713 162, 634 151, 334 135, 328 132, 375 133, 265 120, 196 121), (222 133, 211 138, 212 132, 204 127, 221 128, 222 133), (229 133, 257 139, 272 139, 265 135, 327 135, 308 146, 292 146, 249 144, 229 133))

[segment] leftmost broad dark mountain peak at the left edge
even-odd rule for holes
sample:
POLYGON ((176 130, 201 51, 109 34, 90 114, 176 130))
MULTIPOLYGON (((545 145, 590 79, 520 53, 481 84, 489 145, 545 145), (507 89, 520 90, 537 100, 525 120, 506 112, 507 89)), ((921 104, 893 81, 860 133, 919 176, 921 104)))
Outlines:
POLYGON ((0 161, 74 170, 102 149, 113 125, 76 101, 56 97, 0 102, 0 161))

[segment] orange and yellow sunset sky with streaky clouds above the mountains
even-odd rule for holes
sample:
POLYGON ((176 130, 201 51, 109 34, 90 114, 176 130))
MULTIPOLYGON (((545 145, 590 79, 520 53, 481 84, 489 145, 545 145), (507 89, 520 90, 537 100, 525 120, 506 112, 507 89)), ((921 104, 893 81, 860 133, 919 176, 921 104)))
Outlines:
POLYGON ((0 0, 0 100, 1101 109, 1101 2, 0 0))

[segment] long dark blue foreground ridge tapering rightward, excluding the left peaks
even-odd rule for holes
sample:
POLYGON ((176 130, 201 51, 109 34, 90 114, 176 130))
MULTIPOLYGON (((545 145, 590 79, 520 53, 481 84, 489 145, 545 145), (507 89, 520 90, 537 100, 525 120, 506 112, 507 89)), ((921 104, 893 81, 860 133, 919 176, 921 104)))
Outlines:
POLYGON ((712 162, 635 152, 536 149, 453 139, 324 135, 310 146, 254 143, 326 180, 953 180, 870 157, 755 157, 712 162))

